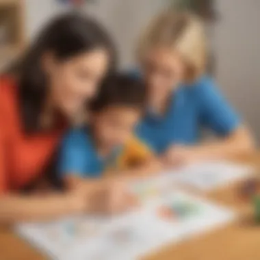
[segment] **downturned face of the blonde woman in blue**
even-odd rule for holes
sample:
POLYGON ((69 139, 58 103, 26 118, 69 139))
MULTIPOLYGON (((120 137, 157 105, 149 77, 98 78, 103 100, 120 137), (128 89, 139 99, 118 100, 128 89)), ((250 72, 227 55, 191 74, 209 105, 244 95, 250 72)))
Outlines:
POLYGON ((157 47, 147 51, 141 65, 151 99, 168 96, 183 79, 183 62, 172 49, 157 47))

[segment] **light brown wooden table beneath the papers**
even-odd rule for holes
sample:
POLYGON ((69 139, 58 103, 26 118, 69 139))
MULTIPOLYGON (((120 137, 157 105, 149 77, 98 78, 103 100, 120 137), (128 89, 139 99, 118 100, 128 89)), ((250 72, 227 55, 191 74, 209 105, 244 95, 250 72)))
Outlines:
MULTIPOLYGON (((253 164, 257 171, 260 169, 260 155, 248 157, 243 161, 253 164)), ((250 205, 239 197, 239 184, 235 183, 206 195, 211 200, 237 209, 237 221, 222 229, 163 248, 145 260, 259 260, 260 225, 257 226, 252 221, 250 205)), ((0 229, 0 260, 47 258, 16 237, 9 229, 0 229)))

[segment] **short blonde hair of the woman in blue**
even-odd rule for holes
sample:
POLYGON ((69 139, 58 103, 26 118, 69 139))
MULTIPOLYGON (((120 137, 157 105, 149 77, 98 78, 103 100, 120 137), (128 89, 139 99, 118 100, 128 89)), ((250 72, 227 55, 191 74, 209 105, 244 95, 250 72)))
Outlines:
POLYGON ((151 47, 170 47, 181 54, 186 81, 194 81, 205 72, 207 40, 203 22, 189 12, 162 12, 148 25, 138 44, 138 56, 151 47))

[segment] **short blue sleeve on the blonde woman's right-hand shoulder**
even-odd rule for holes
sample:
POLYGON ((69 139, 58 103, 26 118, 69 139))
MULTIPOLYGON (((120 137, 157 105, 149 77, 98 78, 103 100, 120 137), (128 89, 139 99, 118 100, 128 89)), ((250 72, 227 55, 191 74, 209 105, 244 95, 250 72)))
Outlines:
POLYGON ((220 93, 210 77, 204 77, 196 86, 200 120, 218 135, 228 135, 239 124, 239 116, 220 93))

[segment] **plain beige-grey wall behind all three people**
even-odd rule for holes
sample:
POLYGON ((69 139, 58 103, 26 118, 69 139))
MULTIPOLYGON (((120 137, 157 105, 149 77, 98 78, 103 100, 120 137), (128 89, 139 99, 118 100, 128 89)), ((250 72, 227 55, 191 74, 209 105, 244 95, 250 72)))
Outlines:
MULTIPOLYGON (((121 66, 127 68, 134 64, 138 34, 166 5, 168 0, 96 0, 85 9, 107 26, 120 51, 121 66)), ((26 40, 64 10, 55 0, 25 0, 26 40)), ((219 19, 211 33, 216 79, 260 141, 260 1, 216 0, 216 10, 219 19)))

